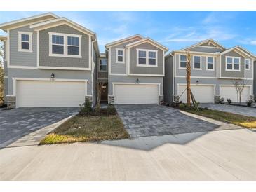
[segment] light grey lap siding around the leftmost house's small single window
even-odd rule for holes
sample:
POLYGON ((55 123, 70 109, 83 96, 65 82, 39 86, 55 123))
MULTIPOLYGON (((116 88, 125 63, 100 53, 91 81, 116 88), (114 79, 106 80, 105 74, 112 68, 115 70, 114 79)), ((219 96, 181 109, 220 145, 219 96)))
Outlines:
POLYGON ((36 32, 29 26, 11 29, 10 34, 10 66, 36 67, 36 32), (33 32, 32 52, 18 51, 18 32, 33 32))

